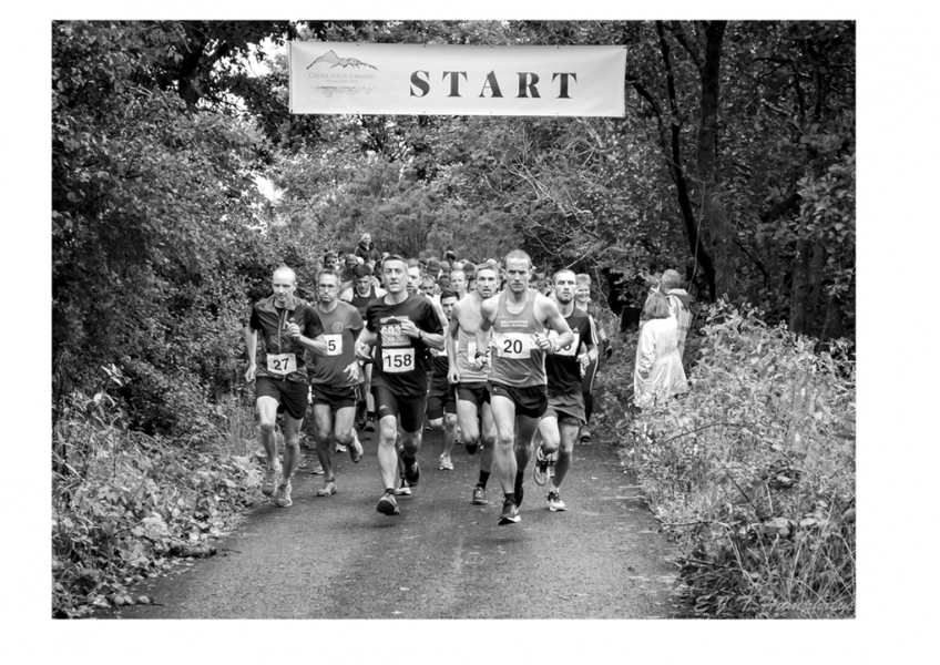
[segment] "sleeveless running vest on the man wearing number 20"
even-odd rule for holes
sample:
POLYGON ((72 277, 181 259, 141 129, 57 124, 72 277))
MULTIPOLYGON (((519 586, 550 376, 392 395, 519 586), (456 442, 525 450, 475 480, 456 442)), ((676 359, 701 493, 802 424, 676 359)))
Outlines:
POLYGON ((545 352, 535 345, 535 336, 545 328, 535 321, 533 309, 539 293, 529 289, 519 314, 509 311, 505 291, 499 295, 493 335, 490 338, 490 380, 524 388, 545 385, 545 352))

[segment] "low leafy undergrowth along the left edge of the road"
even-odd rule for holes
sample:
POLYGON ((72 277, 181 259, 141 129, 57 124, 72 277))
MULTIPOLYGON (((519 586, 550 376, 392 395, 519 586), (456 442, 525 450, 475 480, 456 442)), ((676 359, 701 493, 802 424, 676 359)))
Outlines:
MULTIPOLYGON (((112 382, 123 381, 113 375, 112 382)), ((257 497, 262 470, 246 446, 251 411, 237 398, 208 432, 222 446, 129 430, 117 405, 106 391, 72 393, 53 426, 54 617, 150 602, 132 597, 130 586, 174 556, 213 554, 210 539, 257 497)))

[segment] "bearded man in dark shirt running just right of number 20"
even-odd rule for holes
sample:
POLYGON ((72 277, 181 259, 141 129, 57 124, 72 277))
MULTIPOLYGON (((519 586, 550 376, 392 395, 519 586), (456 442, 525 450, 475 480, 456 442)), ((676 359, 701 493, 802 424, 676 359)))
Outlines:
MULTIPOLYGON (((541 446, 535 449, 535 483, 545 484, 550 464, 554 466, 552 483, 549 487, 549 510, 568 510, 561 500, 559 490, 571 468, 574 440, 578 430, 584 424, 584 396, 581 392, 581 371, 591 360, 597 359, 597 337, 593 319, 574 306, 576 283, 572 270, 563 269, 554 274, 554 299, 559 311, 574 332, 574 341, 545 358, 548 377, 549 407, 539 422, 541 446), (582 351, 582 347, 585 349, 582 351), (556 461, 553 461, 558 452, 556 461)), ((555 337, 555 331, 549 332, 555 337)))

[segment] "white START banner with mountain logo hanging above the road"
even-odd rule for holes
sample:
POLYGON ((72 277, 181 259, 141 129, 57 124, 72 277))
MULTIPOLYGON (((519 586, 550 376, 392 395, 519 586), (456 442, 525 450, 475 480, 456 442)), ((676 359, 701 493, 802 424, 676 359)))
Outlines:
POLYGON ((625 47, 290 42, 292 113, 624 115, 625 47))

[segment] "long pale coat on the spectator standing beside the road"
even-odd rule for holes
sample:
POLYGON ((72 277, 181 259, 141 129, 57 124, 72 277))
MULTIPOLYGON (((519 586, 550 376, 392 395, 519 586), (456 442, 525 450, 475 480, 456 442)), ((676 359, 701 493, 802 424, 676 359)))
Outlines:
POLYGON ((633 403, 637 407, 688 390, 677 332, 678 324, 673 317, 648 320, 640 329, 633 370, 633 403))

